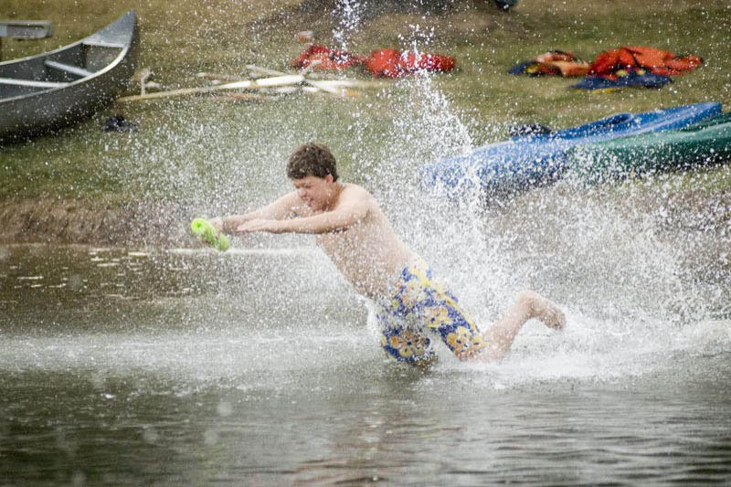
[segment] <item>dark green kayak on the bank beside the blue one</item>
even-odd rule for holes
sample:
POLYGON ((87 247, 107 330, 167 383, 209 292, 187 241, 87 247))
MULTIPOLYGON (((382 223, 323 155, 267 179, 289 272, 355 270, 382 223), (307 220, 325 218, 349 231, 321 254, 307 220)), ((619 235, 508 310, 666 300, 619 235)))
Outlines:
POLYGON ((577 145, 566 157, 568 173, 592 183, 731 162, 731 112, 683 129, 577 145))

